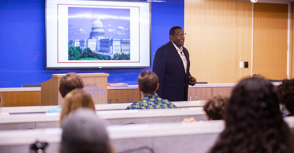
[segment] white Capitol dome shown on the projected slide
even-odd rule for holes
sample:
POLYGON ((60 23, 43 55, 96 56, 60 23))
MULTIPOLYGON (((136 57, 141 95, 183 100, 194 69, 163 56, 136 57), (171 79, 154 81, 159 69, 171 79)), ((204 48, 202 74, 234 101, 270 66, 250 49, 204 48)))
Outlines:
POLYGON ((105 38, 104 26, 99 19, 93 22, 89 39, 98 39, 98 38, 105 38))

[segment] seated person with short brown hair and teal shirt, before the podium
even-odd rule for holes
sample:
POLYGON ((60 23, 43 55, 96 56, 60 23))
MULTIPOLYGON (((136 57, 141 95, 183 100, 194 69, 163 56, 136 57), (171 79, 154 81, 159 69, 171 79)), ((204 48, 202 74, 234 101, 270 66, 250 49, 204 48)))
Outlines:
MULTIPOLYGON (((74 89, 83 89, 84 82, 78 74, 71 72, 61 77, 59 82, 59 92, 61 97, 64 98, 67 93, 74 89)), ((59 113, 61 111, 61 106, 51 108, 46 111, 46 113, 59 113)))

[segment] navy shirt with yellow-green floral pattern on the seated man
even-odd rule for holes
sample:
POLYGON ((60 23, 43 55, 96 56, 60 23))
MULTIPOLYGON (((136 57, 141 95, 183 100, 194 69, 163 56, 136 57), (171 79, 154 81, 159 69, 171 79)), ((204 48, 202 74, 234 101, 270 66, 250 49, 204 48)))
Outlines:
POLYGON ((167 99, 160 98, 156 93, 144 96, 141 101, 131 104, 126 109, 158 109, 158 108, 177 108, 167 99))

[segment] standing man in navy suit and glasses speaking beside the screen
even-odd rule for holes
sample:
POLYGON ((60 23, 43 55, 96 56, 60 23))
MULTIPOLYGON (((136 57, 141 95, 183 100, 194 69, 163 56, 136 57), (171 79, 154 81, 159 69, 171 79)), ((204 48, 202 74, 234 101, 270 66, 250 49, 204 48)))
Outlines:
POLYGON ((188 50, 183 47, 185 35, 181 27, 169 31, 171 41, 158 48, 153 60, 153 69, 159 79, 156 91, 159 97, 169 101, 187 101, 188 84, 194 86, 196 79, 191 76, 188 50))

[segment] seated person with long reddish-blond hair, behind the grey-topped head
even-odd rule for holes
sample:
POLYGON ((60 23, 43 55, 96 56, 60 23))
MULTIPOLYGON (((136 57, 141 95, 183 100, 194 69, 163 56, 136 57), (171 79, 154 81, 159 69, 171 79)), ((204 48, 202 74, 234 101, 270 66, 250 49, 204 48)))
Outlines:
POLYGON ((96 112, 91 95, 82 89, 74 89, 64 97, 64 104, 60 113, 60 125, 64 117, 78 108, 90 108, 93 112, 96 112))

